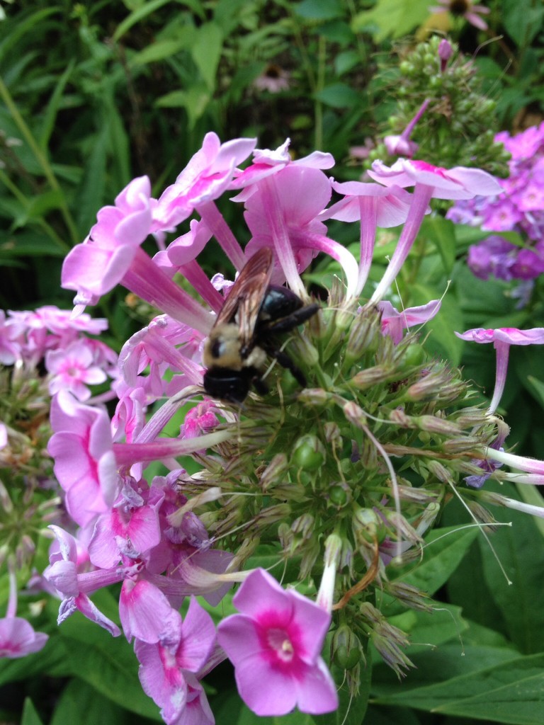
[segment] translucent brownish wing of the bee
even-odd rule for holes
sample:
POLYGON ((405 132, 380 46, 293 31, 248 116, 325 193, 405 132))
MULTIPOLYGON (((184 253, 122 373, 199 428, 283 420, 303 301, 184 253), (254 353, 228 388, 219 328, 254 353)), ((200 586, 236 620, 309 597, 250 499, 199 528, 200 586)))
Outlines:
POLYGON ((231 323, 238 313, 238 325, 242 345, 253 336, 260 306, 272 275, 272 251, 268 247, 258 249, 247 261, 234 285, 228 292, 225 304, 218 312, 215 326, 231 323))

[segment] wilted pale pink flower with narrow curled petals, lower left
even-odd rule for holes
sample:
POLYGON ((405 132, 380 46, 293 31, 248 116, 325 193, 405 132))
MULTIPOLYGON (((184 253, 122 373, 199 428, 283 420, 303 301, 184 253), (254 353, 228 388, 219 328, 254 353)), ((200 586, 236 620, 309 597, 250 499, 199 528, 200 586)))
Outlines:
POLYGON ((63 621, 76 610, 83 616, 99 624, 112 634, 119 637, 120 629, 91 602, 88 593, 96 589, 107 587, 123 579, 120 568, 110 568, 104 571, 89 571, 78 573, 78 545, 74 537, 59 526, 49 526, 54 531, 59 542, 58 554, 53 554, 51 564, 44 571, 44 577, 63 597, 59 607, 57 624, 63 621))

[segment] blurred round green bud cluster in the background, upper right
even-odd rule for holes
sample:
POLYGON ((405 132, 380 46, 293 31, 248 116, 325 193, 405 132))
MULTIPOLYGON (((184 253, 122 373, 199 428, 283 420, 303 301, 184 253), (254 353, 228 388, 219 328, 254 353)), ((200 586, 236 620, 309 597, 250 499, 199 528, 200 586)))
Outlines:
MULTIPOLYGON (((429 99, 411 134, 411 141, 419 144, 415 158, 441 167, 479 167, 506 178, 510 154, 503 144, 495 142, 495 101, 483 93, 477 65, 463 57, 455 43, 451 43, 453 54, 441 69, 440 41, 439 36, 433 36, 419 43, 398 65, 397 107, 382 128, 382 136, 403 133, 429 99)), ((388 68, 388 77, 391 72, 388 68)), ((383 143, 371 151, 368 163, 374 159, 385 163, 395 160, 383 143)))

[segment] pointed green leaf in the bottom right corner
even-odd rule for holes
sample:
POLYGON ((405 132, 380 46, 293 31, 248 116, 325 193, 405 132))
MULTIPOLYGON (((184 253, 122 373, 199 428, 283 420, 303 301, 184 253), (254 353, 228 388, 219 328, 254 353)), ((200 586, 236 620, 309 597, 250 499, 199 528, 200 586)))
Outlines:
POLYGON ((376 702, 511 725, 540 725, 544 655, 510 659, 439 684, 402 689, 376 702))

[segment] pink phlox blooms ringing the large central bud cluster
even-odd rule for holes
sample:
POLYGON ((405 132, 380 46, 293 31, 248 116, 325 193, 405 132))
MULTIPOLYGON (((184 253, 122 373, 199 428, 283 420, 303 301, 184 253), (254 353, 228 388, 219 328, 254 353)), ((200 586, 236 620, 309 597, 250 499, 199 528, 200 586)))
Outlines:
MULTIPOLYGON (((202 395, 202 344, 228 294, 228 283, 210 280, 197 257, 214 237, 239 271, 257 249, 268 247, 273 282, 287 281, 304 299, 300 273, 324 252, 342 267, 346 304, 355 307, 368 280, 377 227, 404 223, 371 296, 370 303, 378 305, 409 254, 432 197, 469 199, 500 190, 480 170, 445 170, 406 159, 391 168, 376 162, 371 172, 376 183, 342 184, 323 173, 334 164, 330 154, 314 152, 292 161, 289 141, 274 151, 255 149, 255 143, 239 138, 221 144, 208 133, 202 149, 158 199, 152 198, 147 177, 134 179, 114 206, 99 212, 62 270, 63 286, 77 293, 78 312, 118 283, 162 311, 120 353, 112 421, 75 392, 60 390, 54 398, 49 453, 67 510, 81 529, 77 538, 55 529, 58 546, 46 579, 62 598, 59 621, 80 610, 114 635, 120 634, 118 626, 96 610, 89 595, 122 582, 120 624, 135 640, 143 687, 169 725, 213 722, 199 679, 225 656, 234 663, 240 694, 261 715, 278 716, 294 707, 326 713, 338 705, 321 660, 330 611, 282 589, 263 571, 230 571, 236 560, 214 548, 193 513, 202 503, 220 500, 221 490, 205 488, 189 500, 183 493, 186 473, 177 457, 205 452, 235 436, 233 426, 217 426, 221 416, 231 420, 234 413, 205 400, 186 414, 178 435, 164 436, 181 405, 202 395), (240 170, 250 154, 252 162, 240 170), (333 191, 342 198, 327 207, 333 191), (244 204, 250 232, 244 248, 215 204, 228 192, 244 204), (360 223, 359 260, 327 236, 330 218, 360 223), (164 248, 165 234, 186 221, 189 231, 164 248), (141 248, 149 235, 159 241, 154 257, 141 248), (200 299, 181 289, 176 275, 200 299), (159 401, 162 405, 147 415, 159 401), (143 472, 152 461, 170 473, 155 476, 149 486, 143 472), (178 608, 191 595, 217 603, 233 581, 244 581, 234 597, 240 614, 219 625, 217 647, 205 610, 191 600, 182 620, 178 608)), ((432 302, 399 313, 384 304, 382 331, 399 341, 404 328, 428 320, 439 306, 432 302)), ((193 491, 194 486, 192 480, 193 491)))

